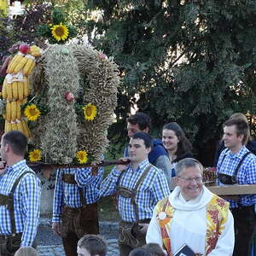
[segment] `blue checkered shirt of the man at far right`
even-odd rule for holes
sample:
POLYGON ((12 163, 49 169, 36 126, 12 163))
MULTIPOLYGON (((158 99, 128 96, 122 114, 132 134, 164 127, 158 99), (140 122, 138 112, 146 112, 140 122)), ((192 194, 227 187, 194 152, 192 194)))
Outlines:
MULTIPOLYGON (((242 146, 239 152, 232 154, 229 148, 223 150, 218 158, 217 172, 228 174, 232 176, 235 173, 236 166, 240 162, 242 156, 249 152, 249 150, 242 146), (223 160, 224 155, 226 157, 223 160), (221 162, 223 163, 221 164, 221 162)), ((256 184, 256 156, 254 154, 248 154, 243 160, 236 177, 238 184, 256 184)), ((218 182, 220 185, 222 183, 218 182)), ((256 204, 256 195, 240 195, 240 205, 248 207, 256 204)), ((236 201, 230 201, 230 208, 239 207, 236 201)))

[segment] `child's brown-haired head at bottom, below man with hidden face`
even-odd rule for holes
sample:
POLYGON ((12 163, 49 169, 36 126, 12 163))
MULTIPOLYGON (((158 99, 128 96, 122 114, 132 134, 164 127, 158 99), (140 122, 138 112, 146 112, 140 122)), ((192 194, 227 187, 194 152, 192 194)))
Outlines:
POLYGON ((101 236, 85 235, 78 242, 79 256, 105 256, 107 244, 101 236))

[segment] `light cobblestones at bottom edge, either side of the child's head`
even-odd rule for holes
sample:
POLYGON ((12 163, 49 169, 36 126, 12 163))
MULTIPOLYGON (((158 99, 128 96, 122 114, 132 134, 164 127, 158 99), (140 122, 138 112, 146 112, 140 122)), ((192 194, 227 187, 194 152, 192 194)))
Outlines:
MULTIPOLYGON (((108 242, 108 253, 107 256, 119 255, 118 240, 107 239, 108 242)), ((38 246, 39 256, 64 256, 64 250, 61 245, 54 246, 38 246)))

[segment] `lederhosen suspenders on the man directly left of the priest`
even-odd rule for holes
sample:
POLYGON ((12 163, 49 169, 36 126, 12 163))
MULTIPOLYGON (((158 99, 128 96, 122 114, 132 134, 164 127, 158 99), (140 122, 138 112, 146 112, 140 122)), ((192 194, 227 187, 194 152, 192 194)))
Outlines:
POLYGON ((145 177, 148 175, 148 172, 150 171, 152 165, 149 164, 149 166, 146 168, 146 170, 143 172, 143 175, 138 179, 136 185, 134 186, 134 189, 130 190, 130 189, 126 189, 125 187, 121 187, 119 186, 119 180, 120 177, 124 174, 124 172, 122 172, 119 176, 119 180, 118 180, 118 195, 122 195, 126 198, 131 198, 131 204, 134 207, 134 212, 135 212, 135 216, 136 216, 136 220, 139 220, 139 214, 138 214, 138 207, 137 207, 137 203, 135 201, 136 198, 136 194, 137 194, 137 189, 139 187, 139 185, 141 183, 143 183, 143 180, 145 179, 145 177))

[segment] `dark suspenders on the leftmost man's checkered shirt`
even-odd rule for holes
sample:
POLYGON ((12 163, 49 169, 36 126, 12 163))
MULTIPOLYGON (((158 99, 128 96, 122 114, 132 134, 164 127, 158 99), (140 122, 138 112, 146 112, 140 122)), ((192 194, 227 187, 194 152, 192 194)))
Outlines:
POLYGON ((15 195, 15 189, 20 183, 20 179, 25 176, 27 173, 32 173, 35 175, 34 172, 27 171, 23 172, 20 177, 17 177, 15 180, 15 183, 9 192, 9 195, 3 195, 0 194, 0 206, 7 206, 7 209, 9 210, 10 220, 11 220, 11 231, 12 234, 16 233, 16 226, 15 226, 15 201, 14 201, 14 195, 15 195))

